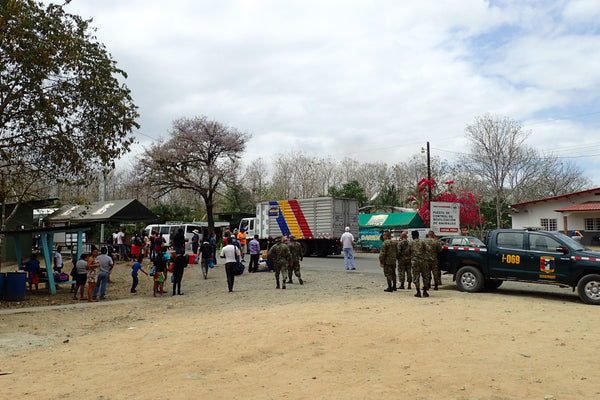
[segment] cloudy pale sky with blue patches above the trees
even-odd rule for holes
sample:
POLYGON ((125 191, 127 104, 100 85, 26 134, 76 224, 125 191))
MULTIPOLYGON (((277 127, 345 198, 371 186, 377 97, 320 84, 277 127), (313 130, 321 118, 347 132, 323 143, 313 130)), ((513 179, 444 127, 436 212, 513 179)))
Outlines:
POLYGON ((458 161, 485 113, 600 186, 600 2, 72 0, 129 75, 139 148, 205 115, 280 153, 458 161))

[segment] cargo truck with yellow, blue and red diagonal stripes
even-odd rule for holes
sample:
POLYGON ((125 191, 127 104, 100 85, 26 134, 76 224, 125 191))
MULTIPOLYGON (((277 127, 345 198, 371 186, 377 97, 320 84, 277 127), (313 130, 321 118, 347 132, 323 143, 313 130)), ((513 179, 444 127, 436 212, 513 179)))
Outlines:
POLYGON ((340 236, 349 227, 358 239, 358 201, 339 197, 264 201, 256 205, 256 216, 243 218, 239 228, 250 240, 258 235, 261 249, 267 239, 294 235, 304 256, 340 254, 340 236))

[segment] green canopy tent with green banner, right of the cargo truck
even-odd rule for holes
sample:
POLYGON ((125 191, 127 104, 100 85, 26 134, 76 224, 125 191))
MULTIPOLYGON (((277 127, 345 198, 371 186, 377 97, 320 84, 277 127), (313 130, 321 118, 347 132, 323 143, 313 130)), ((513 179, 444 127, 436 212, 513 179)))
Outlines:
POLYGON ((417 212, 359 214, 359 243, 361 247, 380 248, 381 232, 399 232, 406 229, 426 228, 417 212))

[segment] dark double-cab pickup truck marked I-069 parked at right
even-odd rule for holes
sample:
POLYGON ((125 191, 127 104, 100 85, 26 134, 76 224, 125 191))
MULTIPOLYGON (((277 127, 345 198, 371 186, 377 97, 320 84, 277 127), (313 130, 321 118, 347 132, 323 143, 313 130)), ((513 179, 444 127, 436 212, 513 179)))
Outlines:
POLYGON ((522 281, 570 286, 587 304, 600 305, 600 252, 559 233, 527 229, 490 231, 485 247, 444 243, 440 268, 465 292, 522 281))

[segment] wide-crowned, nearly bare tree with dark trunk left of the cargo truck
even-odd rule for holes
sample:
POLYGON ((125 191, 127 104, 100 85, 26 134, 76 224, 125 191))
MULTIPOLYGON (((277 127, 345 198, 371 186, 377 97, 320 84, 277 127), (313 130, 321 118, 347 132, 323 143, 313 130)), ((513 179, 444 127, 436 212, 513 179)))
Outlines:
POLYGON ((235 183, 238 160, 251 136, 206 117, 176 120, 170 135, 146 149, 137 167, 140 176, 159 196, 178 189, 200 195, 212 232, 215 196, 235 183))

